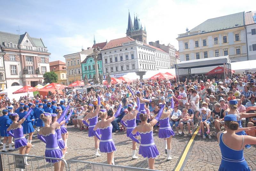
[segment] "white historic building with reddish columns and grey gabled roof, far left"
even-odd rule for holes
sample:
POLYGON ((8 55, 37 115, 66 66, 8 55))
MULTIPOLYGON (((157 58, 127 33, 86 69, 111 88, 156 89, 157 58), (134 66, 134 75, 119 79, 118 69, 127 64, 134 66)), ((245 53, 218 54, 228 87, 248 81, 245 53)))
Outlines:
MULTIPOLYGON (((47 47, 41 38, 0 32, 4 58, 6 87, 36 86, 44 82, 43 74, 50 71, 47 47)), ((0 76, 1 78, 1 76, 0 76)))

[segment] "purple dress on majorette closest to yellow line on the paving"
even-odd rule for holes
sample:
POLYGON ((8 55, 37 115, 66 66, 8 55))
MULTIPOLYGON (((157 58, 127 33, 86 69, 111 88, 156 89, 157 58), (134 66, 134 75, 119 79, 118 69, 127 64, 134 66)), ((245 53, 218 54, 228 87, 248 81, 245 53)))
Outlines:
POLYGON ((159 127, 159 138, 169 138, 170 136, 174 136, 175 133, 172 130, 172 127, 169 122, 169 117, 159 119, 160 127, 159 127))

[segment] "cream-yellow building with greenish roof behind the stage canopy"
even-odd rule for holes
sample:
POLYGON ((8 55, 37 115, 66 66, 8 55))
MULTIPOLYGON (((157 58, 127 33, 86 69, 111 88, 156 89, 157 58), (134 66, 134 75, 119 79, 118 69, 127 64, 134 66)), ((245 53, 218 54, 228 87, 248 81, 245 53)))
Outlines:
POLYGON ((208 19, 179 34, 180 61, 229 55, 231 62, 247 60, 244 12, 208 19))

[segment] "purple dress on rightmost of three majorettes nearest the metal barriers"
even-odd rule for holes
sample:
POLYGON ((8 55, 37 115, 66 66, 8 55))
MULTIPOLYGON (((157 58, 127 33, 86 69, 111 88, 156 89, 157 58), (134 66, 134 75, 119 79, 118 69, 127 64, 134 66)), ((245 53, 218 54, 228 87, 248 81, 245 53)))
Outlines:
POLYGON ((159 155, 159 152, 154 142, 153 131, 151 130, 146 133, 139 133, 141 137, 139 154, 141 154, 144 158, 148 159, 156 158, 159 155))

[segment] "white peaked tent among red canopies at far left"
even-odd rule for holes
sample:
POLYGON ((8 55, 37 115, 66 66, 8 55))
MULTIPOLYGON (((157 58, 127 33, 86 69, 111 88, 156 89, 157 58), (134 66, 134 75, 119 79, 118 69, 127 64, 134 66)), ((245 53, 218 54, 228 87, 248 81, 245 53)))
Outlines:
POLYGON ((4 91, 0 92, 0 95, 7 95, 10 99, 10 101, 12 102, 12 99, 16 99, 19 100, 20 97, 22 96, 27 96, 29 94, 29 96, 33 96, 33 92, 28 92, 28 93, 19 93, 19 94, 12 94, 14 91, 21 89, 23 86, 19 85, 19 86, 11 86, 8 87, 7 89, 5 89, 4 91))

